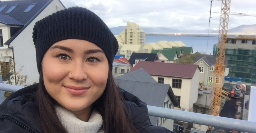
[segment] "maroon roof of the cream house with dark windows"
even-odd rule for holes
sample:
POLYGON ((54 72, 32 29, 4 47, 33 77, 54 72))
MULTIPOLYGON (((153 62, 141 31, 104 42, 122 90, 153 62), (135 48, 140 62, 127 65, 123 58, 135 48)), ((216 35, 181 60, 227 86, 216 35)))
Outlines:
POLYGON ((192 79, 198 65, 163 62, 138 62, 131 71, 143 68, 150 75, 192 79))

